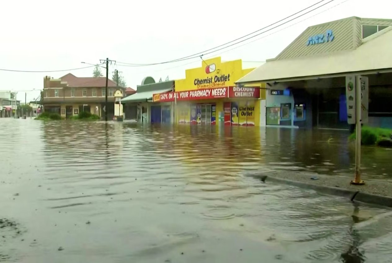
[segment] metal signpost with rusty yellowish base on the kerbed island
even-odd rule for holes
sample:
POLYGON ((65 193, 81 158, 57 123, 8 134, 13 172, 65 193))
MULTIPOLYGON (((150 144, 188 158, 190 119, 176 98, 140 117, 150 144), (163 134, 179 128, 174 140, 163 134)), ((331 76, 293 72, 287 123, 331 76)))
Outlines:
POLYGON ((356 76, 355 80, 355 177, 350 182, 351 185, 364 185, 361 180, 361 76, 356 76))

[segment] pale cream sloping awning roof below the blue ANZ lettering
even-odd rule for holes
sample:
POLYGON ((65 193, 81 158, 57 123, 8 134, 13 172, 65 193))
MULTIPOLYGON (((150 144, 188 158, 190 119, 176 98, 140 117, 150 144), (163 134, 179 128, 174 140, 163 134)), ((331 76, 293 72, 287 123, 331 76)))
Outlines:
POLYGON ((392 72, 392 27, 363 39, 358 48, 322 55, 267 60, 236 83, 289 82, 347 74, 392 72))

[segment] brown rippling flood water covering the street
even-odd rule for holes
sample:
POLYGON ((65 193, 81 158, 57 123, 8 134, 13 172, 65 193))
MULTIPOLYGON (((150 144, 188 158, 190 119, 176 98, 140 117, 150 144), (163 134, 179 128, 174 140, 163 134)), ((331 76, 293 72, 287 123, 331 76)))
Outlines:
MULTIPOLYGON (((390 263, 390 209, 243 176, 349 180, 347 136, 0 119, 0 262, 390 263)), ((390 156, 364 147, 364 177, 390 156)))

